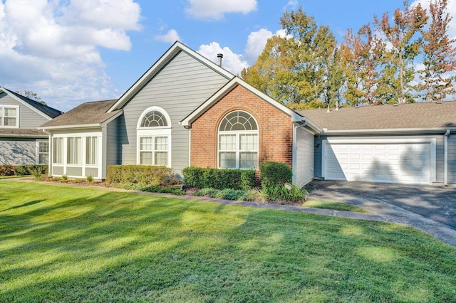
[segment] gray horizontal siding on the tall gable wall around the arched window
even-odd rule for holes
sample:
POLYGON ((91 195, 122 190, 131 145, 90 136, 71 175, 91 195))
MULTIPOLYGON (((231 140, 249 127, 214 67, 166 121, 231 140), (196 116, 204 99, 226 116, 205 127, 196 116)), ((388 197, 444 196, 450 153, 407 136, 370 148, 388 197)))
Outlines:
POLYGON ((136 164, 136 126, 147 107, 158 106, 172 122, 172 168, 176 173, 189 165, 189 131, 179 122, 217 92, 229 79, 184 52, 178 53, 150 83, 123 108, 119 120, 122 164, 136 164))

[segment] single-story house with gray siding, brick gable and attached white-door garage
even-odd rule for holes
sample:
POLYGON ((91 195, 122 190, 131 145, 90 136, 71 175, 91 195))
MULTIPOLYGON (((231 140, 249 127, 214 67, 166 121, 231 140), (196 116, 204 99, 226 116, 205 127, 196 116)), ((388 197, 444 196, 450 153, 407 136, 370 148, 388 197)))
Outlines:
POLYGON ((456 102, 294 111, 180 42, 118 100, 83 103, 39 128, 51 136, 51 176, 280 161, 299 185, 456 183, 456 102))

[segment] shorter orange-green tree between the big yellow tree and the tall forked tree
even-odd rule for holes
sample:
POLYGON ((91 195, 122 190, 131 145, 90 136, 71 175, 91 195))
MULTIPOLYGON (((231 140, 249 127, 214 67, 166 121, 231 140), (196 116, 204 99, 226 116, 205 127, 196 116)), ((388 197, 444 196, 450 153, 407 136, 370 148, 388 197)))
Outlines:
POLYGON ((381 102, 378 85, 385 43, 373 35, 366 24, 358 34, 348 30, 341 44, 343 64, 346 65, 346 92, 344 97, 351 105, 376 105, 381 102))

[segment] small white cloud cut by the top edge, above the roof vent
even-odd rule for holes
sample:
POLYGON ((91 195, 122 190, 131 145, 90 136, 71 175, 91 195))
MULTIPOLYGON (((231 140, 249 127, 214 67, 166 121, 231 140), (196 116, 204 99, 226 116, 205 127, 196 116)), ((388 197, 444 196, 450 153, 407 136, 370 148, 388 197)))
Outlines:
POLYGON ((257 0, 187 0, 187 14, 190 16, 214 21, 228 13, 249 14, 257 10, 257 0))

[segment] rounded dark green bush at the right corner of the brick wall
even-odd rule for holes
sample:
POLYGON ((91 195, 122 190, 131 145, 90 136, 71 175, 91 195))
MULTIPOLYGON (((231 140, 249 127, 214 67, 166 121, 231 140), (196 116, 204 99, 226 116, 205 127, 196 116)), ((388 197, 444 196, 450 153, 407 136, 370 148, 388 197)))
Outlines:
POLYGON ((264 162, 260 168, 261 187, 271 188, 291 183, 293 172, 290 167, 280 162, 264 162))

